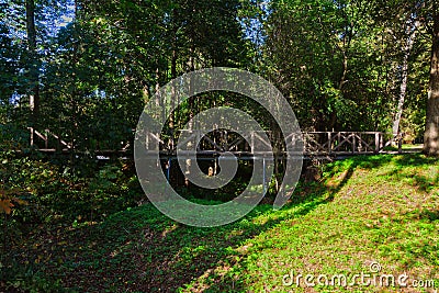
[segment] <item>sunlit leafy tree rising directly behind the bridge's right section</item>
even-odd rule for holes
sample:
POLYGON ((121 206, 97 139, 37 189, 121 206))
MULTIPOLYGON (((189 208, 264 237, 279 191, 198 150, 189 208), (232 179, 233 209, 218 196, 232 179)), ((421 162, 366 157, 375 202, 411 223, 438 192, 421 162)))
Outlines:
POLYGON ((271 9, 266 61, 301 125, 372 128, 378 119, 368 108, 382 99, 371 87, 380 65, 369 1, 272 1, 271 9))

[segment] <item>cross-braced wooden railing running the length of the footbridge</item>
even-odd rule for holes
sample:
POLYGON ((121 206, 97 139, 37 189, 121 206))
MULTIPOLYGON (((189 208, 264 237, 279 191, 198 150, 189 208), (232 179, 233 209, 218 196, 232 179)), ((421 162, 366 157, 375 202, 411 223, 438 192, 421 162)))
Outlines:
MULTIPOLYGON (((58 135, 54 134, 49 129, 45 129, 45 135, 37 132, 36 129, 29 127, 31 131, 31 146, 36 144, 35 138, 42 139, 44 142, 44 148, 40 148, 41 150, 49 151, 53 148, 48 146, 48 138, 54 137, 65 150, 74 149, 74 146, 65 140, 63 140, 58 135)), ((179 143, 188 144, 193 139, 198 142, 198 151, 235 151, 236 154, 240 154, 243 151, 251 154, 255 151, 255 147, 258 144, 263 144, 266 146, 270 146, 269 142, 264 142, 263 135, 260 135, 261 132, 246 132, 241 133, 240 136, 229 135, 229 133, 224 131, 201 131, 201 129, 179 129, 173 133, 176 137, 166 137, 159 133, 149 133, 144 131, 144 137, 146 143, 146 148, 149 146, 158 146, 160 151, 168 151, 169 154, 176 154, 177 145, 173 145, 169 142, 172 139, 177 142, 177 138, 180 137, 181 133, 188 132, 190 135, 185 135, 184 138, 179 143), (212 137, 205 136, 206 133, 217 133, 221 138, 219 142, 213 139, 212 137), (228 138, 228 139, 227 139, 228 138), (151 144, 153 143, 153 144, 151 144)), ((267 136, 271 137, 270 140, 273 139, 272 132, 266 132, 267 136)), ((172 135, 171 135, 172 136, 172 135)), ((218 137, 219 137, 218 136, 218 137)), ((394 135, 391 139, 384 139, 385 134, 382 132, 304 132, 304 133, 290 133, 284 134, 284 139, 288 144, 295 145, 299 142, 303 143, 303 153, 305 155, 357 155, 357 154, 379 154, 382 153, 383 149, 390 146, 392 143, 397 142, 398 151, 402 153, 402 140, 404 134, 394 135)), ((272 143, 272 142, 271 142, 272 143)), ((99 145, 99 142, 98 142, 99 145)), ((132 143, 121 143, 120 149, 115 149, 115 153, 125 153, 132 146, 132 143)), ((157 149, 156 149, 157 150, 157 149)), ((97 149, 95 151, 102 151, 97 149)), ((278 149, 275 151, 285 153, 284 149, 278 149)))

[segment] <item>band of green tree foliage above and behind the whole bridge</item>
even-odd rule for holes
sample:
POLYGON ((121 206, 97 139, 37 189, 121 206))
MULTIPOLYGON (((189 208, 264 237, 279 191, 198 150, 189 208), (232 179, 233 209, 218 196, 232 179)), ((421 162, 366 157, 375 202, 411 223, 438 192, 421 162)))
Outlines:
MULTIPOLYGON (((36 1, 35 54, 25 46, 24 3, 1 5, 0 120, 29 126, 29 95, 37 83, 38 131, 49 128, 90 154, 131 142, 144 102, 157 87, 211 66, 251 69, 270 79, 303 129, 386 132, 399 93, 406 22, 418 13, 426 15, 421 22, 430 22, 432 8, 430 1, 154 0, 89 1, 74 12, 63 3, 36 1), (63 15, 74 20, 55 30, 52 24, 63 15)), ((424 26, 419 31, 427 33, 424 26)), ((418 140, 429 55, 429 41, 417 37, 403 127, 414 129, 410 136, 418 140)), ((212 106, 211 99, 267 116, 249 100, 211 94, 173 113, 177 125, 170 127, 212 106)))

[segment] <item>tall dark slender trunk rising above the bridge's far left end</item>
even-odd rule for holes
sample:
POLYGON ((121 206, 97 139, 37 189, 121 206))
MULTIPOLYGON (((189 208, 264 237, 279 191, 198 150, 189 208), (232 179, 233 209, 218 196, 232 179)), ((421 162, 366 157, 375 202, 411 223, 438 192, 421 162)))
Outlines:
POLYGON ((31 92, 29 95, 29 104, 31 108, 31 123, 34 127, 37 122, 40 112, 40 82, 38 82, 38 66, 36 53, 36 30, 35 30, 35 2, 26 0, 26 33, 27 47, 31 56, 30 80, 31 92))

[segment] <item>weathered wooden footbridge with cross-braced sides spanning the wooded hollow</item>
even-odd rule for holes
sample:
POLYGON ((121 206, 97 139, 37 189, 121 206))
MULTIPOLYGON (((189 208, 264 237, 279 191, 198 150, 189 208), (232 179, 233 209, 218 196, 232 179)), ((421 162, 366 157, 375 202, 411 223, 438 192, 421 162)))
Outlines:
MULTIPOLYGON (((97 142, 93 144, 93 149, 78 149, 75 147, 75 142, 66 142, 58 135, 52 133, 49 129, 38 132, 34 128, 30 131, 30 146, 38 151, 46 154, 71 154, 71 153, 90 153, 95 156, 132 156, 133 139, 131 142, 121 142, 116 146, 109 147, 105 142, 97 142), (105 146, 105 147, 102 147, 105 146)), ((352 156, 352 155, 371 155, 386 153, 386 147, 397 145, 397 153, 402 153, 402 142, 404 135, 389 136, 382 132, 304 132, 301 134, 291 133, 281 139, 274 139, 272 132, 247 132, 234 133, 227 131, 192 131, 180 129, 172 135, 158 134, 145 132, 143 139, 145 139, 145 148, 161 156, 171 157, 176 156, 178 146, 181 145, 196 145, 198 156, 218 156, 225 151, 233 153, 237 157, 248 157, 258 155, 255 149, 259 146, 277 145, 274 155, 283 156, 285 154, 285 144, 295 146, 301 139, 301 147, 303 147, 303 155, 305 157, 320 157, 320 156, 352 156), (184 137, 179 142, 180 137, 184 137), (268 137, 270 142, 267 142, 268 137), (176 142, 179 142, 177 144, 176 142)), ((181 150, 179 154, 182 154, 181 150)), ((263 154, 261 154, 263 155, 263 154)))

